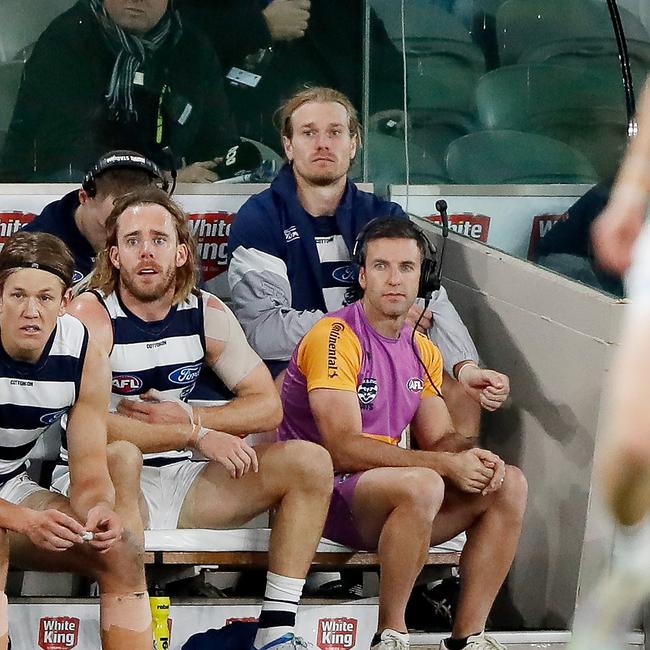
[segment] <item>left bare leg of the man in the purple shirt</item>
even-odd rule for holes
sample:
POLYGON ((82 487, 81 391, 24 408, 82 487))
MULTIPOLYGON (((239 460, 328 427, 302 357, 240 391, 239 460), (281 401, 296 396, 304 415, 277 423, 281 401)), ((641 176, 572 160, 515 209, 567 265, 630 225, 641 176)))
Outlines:
POLYGON ((381 566, 380 631, 406 631, 406 603, 424 566, 443 496, 440 476, 420 467, 371 469, 357 483, 353 515, 364 540, 377 545, 381 566))

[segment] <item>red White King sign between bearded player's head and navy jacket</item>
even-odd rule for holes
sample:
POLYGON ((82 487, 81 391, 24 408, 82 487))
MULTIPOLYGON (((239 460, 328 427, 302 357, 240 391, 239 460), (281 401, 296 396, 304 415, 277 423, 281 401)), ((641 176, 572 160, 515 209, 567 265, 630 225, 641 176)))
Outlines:
POLYGON ((235 215, 231 212, 189 214, 190 229, 198 241, 203 280, 223 273, 228 265, 228 235, 235 215))

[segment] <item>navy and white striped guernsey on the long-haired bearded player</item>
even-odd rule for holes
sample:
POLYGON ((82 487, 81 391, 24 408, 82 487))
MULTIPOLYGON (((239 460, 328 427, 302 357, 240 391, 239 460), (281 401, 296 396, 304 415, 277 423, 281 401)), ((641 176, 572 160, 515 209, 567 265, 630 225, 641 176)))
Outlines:
MULTIPOLYGON (((113 387, 111 410, 128 397, 137 398, 150 388, 186 399, 194 388, 205 357, 204 298, 190 296, 174 305, 165 318, 147 322, 122 303, 117 293, 94 292, 113 326, 110 354, 113 387)), ((190 458, 189 451, 145 454, 146 465, 163 465, 190 458)))

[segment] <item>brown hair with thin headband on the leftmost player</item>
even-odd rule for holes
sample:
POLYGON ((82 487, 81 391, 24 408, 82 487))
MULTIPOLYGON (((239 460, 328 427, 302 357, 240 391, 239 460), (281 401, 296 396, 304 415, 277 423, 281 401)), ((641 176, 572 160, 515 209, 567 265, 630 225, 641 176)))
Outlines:
POLYGON ((74 258, 58 237, 47 232, 19 230, 0 251, 0 287, 19 269, 40 269, 56 275, 64 290, 72 286, 74 258))

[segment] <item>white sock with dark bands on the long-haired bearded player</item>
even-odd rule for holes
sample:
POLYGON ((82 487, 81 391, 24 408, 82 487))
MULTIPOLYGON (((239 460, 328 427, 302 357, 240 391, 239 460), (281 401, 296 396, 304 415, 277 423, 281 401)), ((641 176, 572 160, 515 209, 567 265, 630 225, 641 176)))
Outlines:
POLYGON ((301 578, 289 578, 268 571, 266 574, 266 591, 260 612, 259 627, 253 646, 261 650, 288 632, 293 632, 296 625, 298 601, 302 595, 305 581, 301 578))

